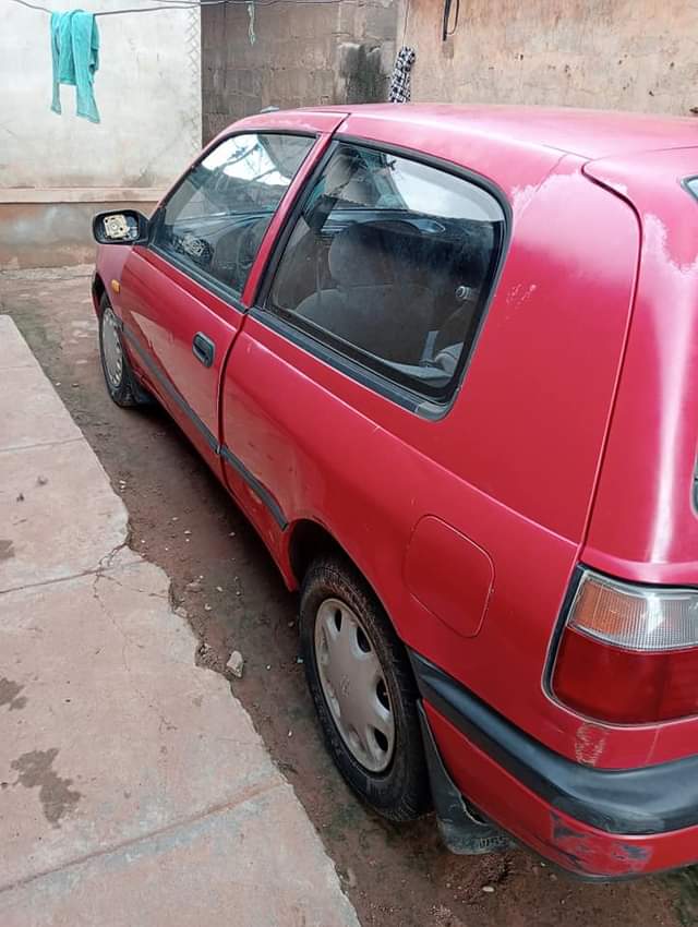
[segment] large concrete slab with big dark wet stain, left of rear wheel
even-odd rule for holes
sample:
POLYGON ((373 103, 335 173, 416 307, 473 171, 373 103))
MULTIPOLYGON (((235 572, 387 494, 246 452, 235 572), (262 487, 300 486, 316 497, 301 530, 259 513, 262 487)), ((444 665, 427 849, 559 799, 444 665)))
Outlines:
POLYGON ((141 562, 0 595, 0 887, 281 783, 168 588, 141 562))

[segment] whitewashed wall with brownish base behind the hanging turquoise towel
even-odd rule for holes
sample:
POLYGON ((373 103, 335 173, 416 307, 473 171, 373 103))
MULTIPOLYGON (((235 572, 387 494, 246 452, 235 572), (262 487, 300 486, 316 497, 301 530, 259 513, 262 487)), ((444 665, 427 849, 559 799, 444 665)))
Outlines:
MULTIPOLYGON (((89 9, 140 5, 153 3, 94 0, 89 9)), ((152 208, 201 146, 198 11, 97 20, 99 124, 76 118, 73 87, 61 87, 62 116, 50 110, 49 16, 5 3, 3 17, 0 267, 84 260, 94 252, 91 213, 134 200, 152 208)))

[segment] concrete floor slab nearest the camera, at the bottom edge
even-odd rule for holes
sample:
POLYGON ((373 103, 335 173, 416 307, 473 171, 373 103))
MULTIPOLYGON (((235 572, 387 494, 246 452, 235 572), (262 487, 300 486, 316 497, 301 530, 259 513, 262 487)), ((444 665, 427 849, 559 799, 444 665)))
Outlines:
POLYGON ((0 924, 359 927, 288 785, 0 891, 0 924))

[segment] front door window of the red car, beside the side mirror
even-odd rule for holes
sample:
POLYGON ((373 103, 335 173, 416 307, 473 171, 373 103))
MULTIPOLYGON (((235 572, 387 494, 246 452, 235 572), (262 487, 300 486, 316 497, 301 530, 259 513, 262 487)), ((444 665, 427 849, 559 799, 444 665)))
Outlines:
POLYGON ((276 207, 313 144, 308 136, 273 133, 225 139, 166 202, 153 245, 239 296, 276 207))

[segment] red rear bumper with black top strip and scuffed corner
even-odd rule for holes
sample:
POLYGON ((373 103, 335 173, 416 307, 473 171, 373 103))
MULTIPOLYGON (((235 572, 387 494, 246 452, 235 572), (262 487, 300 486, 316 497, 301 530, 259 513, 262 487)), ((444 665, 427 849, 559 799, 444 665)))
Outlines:
POLYGON ((450 778, 505 831, 586 878, 627 878, 698 859, 698 757, 617 771, 574 762, 429 661, 414 653, 411 660, 450 778))

